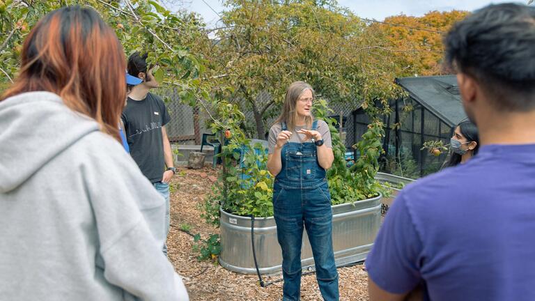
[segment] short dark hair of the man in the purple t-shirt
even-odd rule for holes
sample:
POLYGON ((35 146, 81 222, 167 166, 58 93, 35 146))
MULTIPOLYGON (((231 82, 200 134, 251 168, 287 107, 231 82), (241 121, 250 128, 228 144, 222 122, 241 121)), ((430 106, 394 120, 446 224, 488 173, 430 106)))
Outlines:
POLYGON ((497 109, 535 109, 535 8, 486 6, 444 38, 447 67, 474 77, 497 109))

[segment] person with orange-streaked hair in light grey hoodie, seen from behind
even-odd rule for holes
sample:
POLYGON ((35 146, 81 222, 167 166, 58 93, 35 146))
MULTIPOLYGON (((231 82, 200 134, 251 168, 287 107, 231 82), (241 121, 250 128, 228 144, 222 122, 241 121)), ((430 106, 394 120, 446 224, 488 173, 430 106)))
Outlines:
POLYGON ((188 300, 160 249, 164 199, 120 143, 114 31, 54 10, 21 59, 0 98, 0 300, 188 300))

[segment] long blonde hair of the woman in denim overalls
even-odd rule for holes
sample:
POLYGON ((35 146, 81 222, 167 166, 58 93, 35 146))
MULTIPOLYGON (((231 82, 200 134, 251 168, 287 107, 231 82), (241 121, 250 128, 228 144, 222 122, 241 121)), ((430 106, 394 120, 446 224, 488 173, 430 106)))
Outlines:
MULTIPOLYGON (((303 93, 307 90, 310 90, 312 92, 312 98, 316 98, 316 93, 314 92, 314 89, 311 85, 307 84, 306 82, 293 82, 288 87, 288 90, 286 90, 286 97, 284 98, 284 104, 282 105, 282 111, 281 115, 277 120, 274 122, 274 124, 285 122, 286 127, 290 132, 293 132, 295 130, 295 123, 298 118, 297 110, 295 109, 295 104, 303 95, 303 93)), ((307 128, 312 128, 312 121, 313 116, 306 116, 304 118, 304 122, 307 125, 307 128)))

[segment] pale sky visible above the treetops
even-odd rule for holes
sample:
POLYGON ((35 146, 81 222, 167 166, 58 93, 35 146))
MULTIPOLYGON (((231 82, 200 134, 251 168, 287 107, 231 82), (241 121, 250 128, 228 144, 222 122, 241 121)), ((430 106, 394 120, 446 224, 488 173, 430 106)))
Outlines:
MULTIPOLYGON (((208 27, 214 27, 219 17, 216 12, 224 10, 222 0, 183 0, 183 8, 193 10, 203 16, 208 27), (206 2, 206 3, 205 3, 206 2), (210 6, 210 7, 209 7, 210 6)), ((421 16, 431 10, 474 10, 490 3, 504 3, 511 0, 339 0, 341 6, 345 6, 363 18, 384 20, 391 15, 421 16)), ((517 1, 518 2, 518 1, 517 1)), ((527 3, 527 1, 520 1, 527 3)), ((174 10, 174 8, 170 8, 174 10)))

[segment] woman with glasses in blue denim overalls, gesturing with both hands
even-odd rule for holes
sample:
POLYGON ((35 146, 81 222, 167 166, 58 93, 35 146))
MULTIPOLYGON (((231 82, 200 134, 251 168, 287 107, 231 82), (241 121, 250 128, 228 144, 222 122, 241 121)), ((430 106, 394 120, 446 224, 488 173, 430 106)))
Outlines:
MULTIPOLYGON (((323 143, 318 121, 313 121, 313 98, 309 84, 291 84, 281 116, 270 130, 267 169, 276 176, 273 208, 283 257, 283 301, 300 300, 303 227, 312 247, 321 295, 327 301, 339 300, 332 249, 331 199, 325 178, 334 155, 330 139, 329 146, 323 143)), ((326 123, 320 122, 323 133, 330 138, 326 123)))

